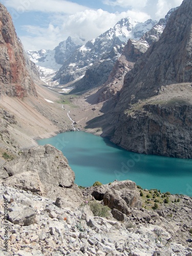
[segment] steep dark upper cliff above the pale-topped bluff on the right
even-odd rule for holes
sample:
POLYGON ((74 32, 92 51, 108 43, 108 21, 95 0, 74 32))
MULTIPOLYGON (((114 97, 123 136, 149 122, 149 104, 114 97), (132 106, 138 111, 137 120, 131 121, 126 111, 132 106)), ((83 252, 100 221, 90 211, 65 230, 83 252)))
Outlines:
POLYGON ((166 84, 191 81, 192 6, 189 3, 191 1, 183 1, 181 7, 172 12, 159 41, 127 74, 124 90, 132 88, 135 100, 157 94, 157 90, 166 84))

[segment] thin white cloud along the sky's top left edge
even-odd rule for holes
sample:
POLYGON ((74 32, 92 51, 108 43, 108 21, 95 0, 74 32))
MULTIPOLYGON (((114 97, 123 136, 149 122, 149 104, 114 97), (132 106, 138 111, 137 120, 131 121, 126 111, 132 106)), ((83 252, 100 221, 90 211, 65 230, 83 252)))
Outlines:
POLYGON ((72 14, 88 9, 82 5, 65 0, 4 0, 7 7, 12 7, 20 14, 25 11, 58 12, 72 14))

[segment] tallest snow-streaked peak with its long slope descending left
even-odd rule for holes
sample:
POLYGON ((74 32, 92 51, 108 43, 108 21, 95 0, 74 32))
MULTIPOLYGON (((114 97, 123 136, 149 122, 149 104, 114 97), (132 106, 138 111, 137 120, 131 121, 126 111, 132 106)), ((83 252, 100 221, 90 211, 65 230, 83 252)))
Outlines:
POLYGON ((137 20, 130 17, 122 18, 113 28, 89 40, 77 49, 63 63, 54 80, 59 79, 60 84, 67 84, 82 77, 87 69, 96 65, 97 61, 111 58, 114 62, 122 53, 122 49, 129 38, 140 38, 146 31, 150 31, 155 24, 157 22, 152 19, 145 23, 138 23, 137 20))

